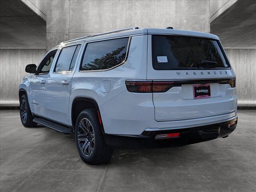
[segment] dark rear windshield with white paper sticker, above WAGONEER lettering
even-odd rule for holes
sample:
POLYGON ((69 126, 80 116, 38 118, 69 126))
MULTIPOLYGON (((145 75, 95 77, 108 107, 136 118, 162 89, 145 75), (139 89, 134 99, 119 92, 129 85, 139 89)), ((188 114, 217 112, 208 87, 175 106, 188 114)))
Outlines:
POLYGON ((152 49, 156 70, 230 67, 217 40, 153 35, 152 49))

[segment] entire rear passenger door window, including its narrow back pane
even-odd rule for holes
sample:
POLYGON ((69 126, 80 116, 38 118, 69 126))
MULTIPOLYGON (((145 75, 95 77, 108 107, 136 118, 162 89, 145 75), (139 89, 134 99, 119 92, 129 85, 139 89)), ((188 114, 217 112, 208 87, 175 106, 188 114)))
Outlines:
POLYGON ((81 45, 62 48, 54 72, 72 71, 81 45))

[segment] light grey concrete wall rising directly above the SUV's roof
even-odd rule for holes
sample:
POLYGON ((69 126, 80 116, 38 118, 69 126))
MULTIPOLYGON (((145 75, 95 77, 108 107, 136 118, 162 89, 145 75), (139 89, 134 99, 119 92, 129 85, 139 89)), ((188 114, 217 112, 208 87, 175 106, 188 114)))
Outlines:
POLYGON ((209 1, 51 0, 46 49, 64 40, 130 26, 210 32, 209 1))

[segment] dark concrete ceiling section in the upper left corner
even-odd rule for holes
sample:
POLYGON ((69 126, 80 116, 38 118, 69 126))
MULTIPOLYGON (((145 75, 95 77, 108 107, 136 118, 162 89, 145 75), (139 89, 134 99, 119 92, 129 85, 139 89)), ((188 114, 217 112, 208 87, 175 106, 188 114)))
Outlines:
POLYGON ((20 0, 1 0, 0 48, 46 48, 46 21, 20 0))

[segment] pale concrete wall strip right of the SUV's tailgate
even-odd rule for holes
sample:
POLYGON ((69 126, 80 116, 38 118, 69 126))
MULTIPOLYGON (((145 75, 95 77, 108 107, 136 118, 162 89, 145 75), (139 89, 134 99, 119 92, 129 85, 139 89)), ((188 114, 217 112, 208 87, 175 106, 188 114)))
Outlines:
POLYGON ((238 106, 256 106, 256 49, 225 49, 236 73, 238 106))

